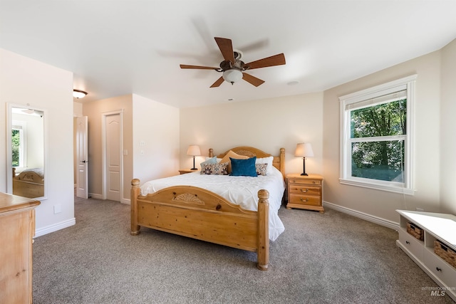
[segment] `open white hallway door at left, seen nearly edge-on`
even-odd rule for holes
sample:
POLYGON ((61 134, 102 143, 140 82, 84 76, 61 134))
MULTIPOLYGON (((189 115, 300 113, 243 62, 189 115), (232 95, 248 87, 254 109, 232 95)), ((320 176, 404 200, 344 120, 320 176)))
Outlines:
POLYGON ((76 118, 76 196, 88 198, 87 116, 76 118))

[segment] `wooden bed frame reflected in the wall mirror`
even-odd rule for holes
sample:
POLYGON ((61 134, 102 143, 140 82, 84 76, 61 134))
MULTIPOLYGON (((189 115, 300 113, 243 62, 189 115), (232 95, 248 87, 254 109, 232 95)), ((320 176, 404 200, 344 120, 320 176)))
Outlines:
POLYGON ((13 167, 13 194, 28 198, 44 196, 44 179, 33 171, 21 172, 16 176, 13 167))

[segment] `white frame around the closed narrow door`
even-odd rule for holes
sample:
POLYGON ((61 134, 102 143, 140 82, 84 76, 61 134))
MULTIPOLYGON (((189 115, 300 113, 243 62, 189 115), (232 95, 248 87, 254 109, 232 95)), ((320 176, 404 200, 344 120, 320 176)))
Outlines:
POLYGON ((119 138, 119 143, 120 143, 120 203, 123 202, 123 109, 120 110, 114 110, 114 111, 109 111, 109 112, 102 112, 101 113, 101 146, 102 146, 102 164, 103 164, 103 169, 101 170, 101 182, 102 182, 102 187, 101 187, 101 196, 102 199, 106 199, 106 187, 108 185, 106 184, 106 168, 108 165, 106 162, 108 161, 106 157, 106 152, 107 152, 107 142, 106 142, 106 117, 110 115, 119 115, 120 116, 120 138, 119 138))

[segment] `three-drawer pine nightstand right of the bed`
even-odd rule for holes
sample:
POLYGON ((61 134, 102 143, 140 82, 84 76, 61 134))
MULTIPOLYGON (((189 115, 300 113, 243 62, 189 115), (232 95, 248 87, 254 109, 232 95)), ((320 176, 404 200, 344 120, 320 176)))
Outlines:
POLYGON ((286 174, 288 203, 286 209, 307 209, 323 213, 323 177, 318 174, 286 174))

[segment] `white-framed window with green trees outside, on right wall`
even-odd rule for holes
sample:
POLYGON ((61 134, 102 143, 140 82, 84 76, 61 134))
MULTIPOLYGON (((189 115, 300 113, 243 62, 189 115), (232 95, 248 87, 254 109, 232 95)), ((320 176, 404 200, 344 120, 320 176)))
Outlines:
POLYGON ((413 194, 416 75, 339 98, 342 184, 413 194))

